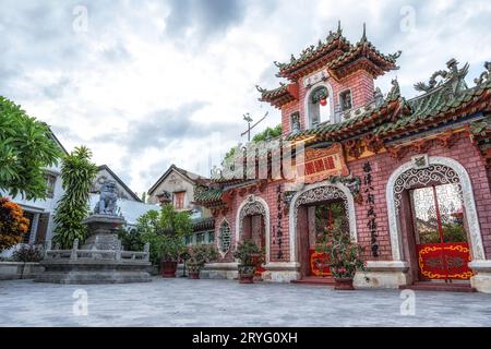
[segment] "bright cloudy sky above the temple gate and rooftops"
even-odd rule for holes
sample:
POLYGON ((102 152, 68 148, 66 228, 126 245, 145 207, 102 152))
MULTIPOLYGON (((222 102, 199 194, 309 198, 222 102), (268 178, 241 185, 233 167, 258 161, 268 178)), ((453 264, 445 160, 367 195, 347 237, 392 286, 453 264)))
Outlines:
POLYGON ((357 43, 403 50, 403 95, 455 57, 469 84, 491 59, 491 2, 327 0, 0 0, 0 95, 84 144, 137 193, 171 164, 201 174, 243 142, 242 115, 279 123, 255 84, 342 21, 357 43))

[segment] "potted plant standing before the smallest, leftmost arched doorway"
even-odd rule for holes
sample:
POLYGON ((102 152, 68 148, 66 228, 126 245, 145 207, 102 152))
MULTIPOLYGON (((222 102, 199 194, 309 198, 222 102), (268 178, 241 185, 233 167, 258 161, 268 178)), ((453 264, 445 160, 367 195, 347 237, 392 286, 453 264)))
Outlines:
POLYGON ((244 240, 237 246, 233 257, 239 260, 239 282, 254 282, 255 268, 264 261, 261 249, 253 240, 244 240))

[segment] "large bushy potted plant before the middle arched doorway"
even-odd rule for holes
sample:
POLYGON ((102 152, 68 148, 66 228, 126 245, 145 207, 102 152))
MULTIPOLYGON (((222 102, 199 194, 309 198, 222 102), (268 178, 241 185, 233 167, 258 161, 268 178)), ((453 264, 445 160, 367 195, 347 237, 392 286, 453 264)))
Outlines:
POLYGON ((334 219, 334 222, 318 234, 316 252, 323 253, 320 267, 330 267, 334 277, 335 290, 354 290, 352 280, 358 269, 363 270, 363 249, 351 241, 349 222, 345 215, 334 219))

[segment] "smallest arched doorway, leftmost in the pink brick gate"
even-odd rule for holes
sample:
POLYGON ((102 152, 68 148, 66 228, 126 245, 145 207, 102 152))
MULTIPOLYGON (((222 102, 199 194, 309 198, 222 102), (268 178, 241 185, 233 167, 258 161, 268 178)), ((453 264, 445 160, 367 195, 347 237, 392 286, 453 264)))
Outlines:
MULTIPOLYGON (((270 262, 270 209, 261 197, 250 195, 239 206, 237 214, 236 241, 253 240, 260 249, 265 250, 266 263, 270 262)), ((258 275, 265 272, 258 267, 258 275)))

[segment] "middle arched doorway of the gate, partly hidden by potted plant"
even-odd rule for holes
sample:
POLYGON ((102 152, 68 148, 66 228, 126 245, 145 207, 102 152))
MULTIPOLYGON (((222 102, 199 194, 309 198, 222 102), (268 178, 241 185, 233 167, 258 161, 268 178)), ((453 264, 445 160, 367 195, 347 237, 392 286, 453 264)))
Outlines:
POLYGON ((357 240, 355 203, 348 188, 342 183, 316 183, 298 192, 290 205, 290 255, 299 262, 302 277, 326 276, 315 265, 316 233, 330 225, 335 215, 346 215, 351 239, 357 240))

